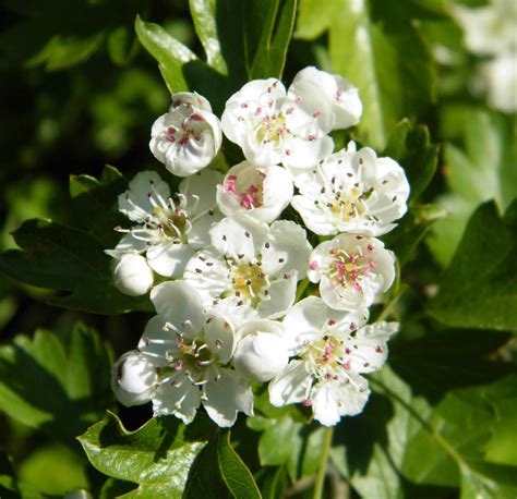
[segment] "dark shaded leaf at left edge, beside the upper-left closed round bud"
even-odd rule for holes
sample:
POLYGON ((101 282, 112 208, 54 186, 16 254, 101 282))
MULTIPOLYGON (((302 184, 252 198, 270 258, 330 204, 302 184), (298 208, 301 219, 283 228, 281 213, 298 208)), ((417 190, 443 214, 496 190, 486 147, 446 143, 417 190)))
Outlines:
POLYGON ((106 247, 88 233, 35 219, 12 235, 21 249, 0 255, 0 272, 25 284, 69 292, 48 296, 48 303, 97 314, 153 309, 147 297, 127 296, 115 288, 106 247))

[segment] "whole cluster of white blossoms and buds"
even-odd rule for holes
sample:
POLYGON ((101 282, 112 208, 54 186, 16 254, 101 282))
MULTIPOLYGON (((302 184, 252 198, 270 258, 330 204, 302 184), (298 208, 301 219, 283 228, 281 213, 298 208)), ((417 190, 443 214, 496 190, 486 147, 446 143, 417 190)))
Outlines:
POLYGON ((362 411, 362 375, 383 365, 398 329, 368 325, 395 278, 377 236, 406 212, 409 185, 368 147, 334 151, 329 132, 361 112, 357 88, 315 68, 288 89, 275 78, 245 84, 220 122, 197 94, 172 97, 151 149, 183 178, 178 193, 139 173, 118 199, 133 226, 116 228, 123 235, 107 251, 116 285, 149 292, 157 314, 113 366, 121 403, 151 401, 156 416, 184 423, 203 405, 227 427, 253 414, 252 384, 268 382, 273 405, 311 406, 323 425, 362 411), (209 169, 223 132, 245 158, 225 175, 209 169), (309 281, 317 296, 297 302, 309 281))

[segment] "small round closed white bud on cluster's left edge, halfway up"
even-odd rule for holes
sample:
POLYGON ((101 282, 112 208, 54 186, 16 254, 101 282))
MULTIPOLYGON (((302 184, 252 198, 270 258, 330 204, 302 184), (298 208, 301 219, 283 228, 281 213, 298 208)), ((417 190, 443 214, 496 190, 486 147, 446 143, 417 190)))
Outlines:
POLYGON ((154 276, 147 260, 137 253, 128 253, 113 269, 115 285, 124 294, 140 296, 153 285, 154 276))

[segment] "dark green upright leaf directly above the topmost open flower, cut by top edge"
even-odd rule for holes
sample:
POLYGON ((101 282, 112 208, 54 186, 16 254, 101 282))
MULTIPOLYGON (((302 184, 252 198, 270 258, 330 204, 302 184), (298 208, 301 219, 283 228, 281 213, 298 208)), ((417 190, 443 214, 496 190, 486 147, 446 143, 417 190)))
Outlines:
MULTIPOLYGON (((260 41, 254 57, 248 51, 250 64, 250 80, 277 77, 281 78, 286 64, 287 50, 294 26, 297 0, 254 0, 245 8, 247 48, 254 46, 250 40, 253 27, 262 27, 260 41), (257 19, 261 22, 257 23, 257 19)), ((256 29, 256 27, 254 28, 256 29)))

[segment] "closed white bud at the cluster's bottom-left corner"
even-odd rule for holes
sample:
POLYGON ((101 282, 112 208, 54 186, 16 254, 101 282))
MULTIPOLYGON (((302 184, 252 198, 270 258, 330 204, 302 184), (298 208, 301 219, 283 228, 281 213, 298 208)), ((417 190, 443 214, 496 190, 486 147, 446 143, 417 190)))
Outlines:
POLYGON ((156 367, 137 350, 125 352, 111 368, 111 388, 128 407, 149 402, 157 380, 156 367))

